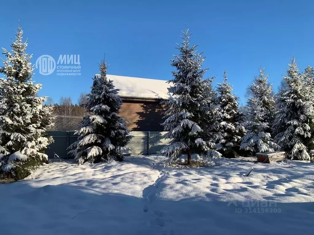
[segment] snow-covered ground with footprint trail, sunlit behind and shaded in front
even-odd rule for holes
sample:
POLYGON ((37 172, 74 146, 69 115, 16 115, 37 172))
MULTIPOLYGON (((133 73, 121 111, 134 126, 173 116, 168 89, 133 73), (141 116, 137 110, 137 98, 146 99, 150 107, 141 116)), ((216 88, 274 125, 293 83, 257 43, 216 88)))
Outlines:
POLYGON ((182 169, 163 160, 56 161, 0 185, 0 234, 313 234, 313 163, 182 169))

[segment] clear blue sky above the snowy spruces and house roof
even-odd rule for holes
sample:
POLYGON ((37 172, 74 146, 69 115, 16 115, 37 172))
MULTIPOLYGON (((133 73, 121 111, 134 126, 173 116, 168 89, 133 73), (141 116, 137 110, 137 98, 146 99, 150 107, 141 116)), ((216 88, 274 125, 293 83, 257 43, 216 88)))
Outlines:
MULTIPOLYGON (((10 1, 1 3, 0 47, 9 49, 18 20, 28 38, 32 63, 41 55, 57 59, 78 54, 81 76, 49 76, 35 70, 41 96, 58 102, 89 92, 91 77, 106 53, 108 74, 171 79, 169 58, 177 54, 184 25, 191 43, 207 56, 205 77, 223 70, 234 92, 244 93, 262 64, 277 88, 294 53, 302 70, 313 65, 314 1, 10 1)), ((2 55, 2 58, 3 55, 2 55)))

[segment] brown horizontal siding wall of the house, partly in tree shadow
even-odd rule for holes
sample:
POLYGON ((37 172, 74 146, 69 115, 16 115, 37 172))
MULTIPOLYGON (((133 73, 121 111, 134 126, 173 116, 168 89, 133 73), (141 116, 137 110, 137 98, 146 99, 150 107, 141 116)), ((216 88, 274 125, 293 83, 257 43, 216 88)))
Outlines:
POLYGON ((124 100, 119 116, 126 119, 127 128, 131 131, 163 131, 163 113, 165 107, 160 101, 124 100))

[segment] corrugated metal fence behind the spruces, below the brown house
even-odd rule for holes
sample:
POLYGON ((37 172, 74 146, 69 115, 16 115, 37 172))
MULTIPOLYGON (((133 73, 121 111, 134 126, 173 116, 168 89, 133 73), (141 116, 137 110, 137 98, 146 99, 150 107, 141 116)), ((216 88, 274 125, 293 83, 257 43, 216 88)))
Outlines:
MULTIPOLYGON (((149 155, 157 154, 160 149, 169 144, 171 139, 162 139, 161 137, 167 132, 158 131, 131 131, 133 135, 128 147, 131 149, 129 154, 136 155, 149 155)), ((74 143, 78 136, 74 131, 48 131, 54 139, 54 143, 49 145, 47 154, 49 158, 53 158, 57 154, 60 158, 73 158, 67 154, 67 148, 70 144, 74 143)))

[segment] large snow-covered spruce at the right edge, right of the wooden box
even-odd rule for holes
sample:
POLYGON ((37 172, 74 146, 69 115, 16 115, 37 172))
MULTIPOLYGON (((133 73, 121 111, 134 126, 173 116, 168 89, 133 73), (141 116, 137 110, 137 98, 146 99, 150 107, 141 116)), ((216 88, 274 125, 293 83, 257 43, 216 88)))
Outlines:
MULTIPOLYGON (((307 72, 306 72, 307 73, 307 72)), ((313 84, 306 73, 300 74, 296 59, 290 60, 284 85, 277 98, 277 113, 273 123, 274 141, 294 159, 310 159, 314 124, 313 84)))

